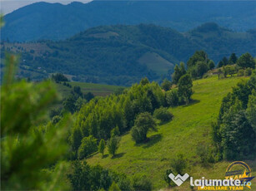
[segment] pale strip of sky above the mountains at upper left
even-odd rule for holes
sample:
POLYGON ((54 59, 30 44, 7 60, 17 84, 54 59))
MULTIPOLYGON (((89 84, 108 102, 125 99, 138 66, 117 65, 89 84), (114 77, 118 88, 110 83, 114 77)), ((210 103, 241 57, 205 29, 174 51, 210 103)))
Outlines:
POLYGON ((70 2, 89 2, 90 0, 0 0, 0 10, 3 14, 13 12, 14 10, 24 7, 34 2, 60 2, 62 4, 68 4, 70 2))

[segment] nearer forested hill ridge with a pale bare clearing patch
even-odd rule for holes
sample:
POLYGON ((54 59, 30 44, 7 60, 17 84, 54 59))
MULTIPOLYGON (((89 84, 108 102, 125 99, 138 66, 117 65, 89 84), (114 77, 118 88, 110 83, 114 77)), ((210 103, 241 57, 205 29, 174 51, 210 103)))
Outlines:
POLYGON ((232 32, 211 22, 185 33, 152 24, 93 27, 64 41, 4 43, 2 49, 23 52, 22 77, 40 80, 62 72, 73 81, 129 86, 144 76, 170 76, 174 64, 194 51, 207 51, 217 62, 232 52, 256 56, 255 44, 254 30, 232 32))

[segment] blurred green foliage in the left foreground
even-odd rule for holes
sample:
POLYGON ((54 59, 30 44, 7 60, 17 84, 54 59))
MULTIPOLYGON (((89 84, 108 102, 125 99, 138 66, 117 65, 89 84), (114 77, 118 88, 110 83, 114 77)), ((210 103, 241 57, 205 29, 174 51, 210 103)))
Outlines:
POLYGON ((67 189, 59 179, 68 168, 70 117, 56 125, 47 122, 57 91, 50 81, 15 81, 17 68, 18 57, 7 55, 1 86, 1 189, 67 189))

